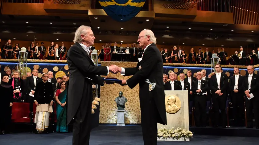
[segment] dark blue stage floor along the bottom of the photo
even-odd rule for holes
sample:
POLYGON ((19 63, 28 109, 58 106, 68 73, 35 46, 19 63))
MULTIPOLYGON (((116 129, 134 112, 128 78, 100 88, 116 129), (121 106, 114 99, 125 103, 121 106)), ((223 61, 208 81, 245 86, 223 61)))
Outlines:
MULTIPOLYGON (((158 141, 158 145, 255 145, 256 137, 233 137, 214 135, 195 135, 190 142, 158 141)), ((72 133, 30 134, 15 133, 0 135, 1 145, 72 145, 72 133)), ((90 136, 90 145, 143 145, 140 125, 99 125, 90 136)))

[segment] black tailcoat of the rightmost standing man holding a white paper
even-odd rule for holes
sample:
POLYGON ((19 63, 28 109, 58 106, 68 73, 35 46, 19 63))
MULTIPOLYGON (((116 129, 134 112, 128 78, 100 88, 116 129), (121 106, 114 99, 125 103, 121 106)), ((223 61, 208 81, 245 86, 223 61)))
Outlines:
MULTIPOLYGON (((249 75, 245 75, 243 77, 243 89, 244 91, 248 90, 248 76, 249 75)), ((251 80, 251 88, 249 89, 249 94, 253 93, 253 95, 255 97, 258 97, 259 93, 258 93, 258 88, 259 88, 259 80, 258 80, 258 75, 256 75, 255 73, 253 73, 253 77, 251 80)))

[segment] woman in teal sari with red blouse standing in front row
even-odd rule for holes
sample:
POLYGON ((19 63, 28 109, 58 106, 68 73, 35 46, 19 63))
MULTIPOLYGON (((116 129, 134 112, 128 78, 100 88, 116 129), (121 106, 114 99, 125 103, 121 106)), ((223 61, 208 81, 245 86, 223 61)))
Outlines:
POLYGON ((57 102, 57 132, 68 132, 67 126, 67 90, 66 83, 60 82, 60 89, 57 90, 55 100, 57 102))

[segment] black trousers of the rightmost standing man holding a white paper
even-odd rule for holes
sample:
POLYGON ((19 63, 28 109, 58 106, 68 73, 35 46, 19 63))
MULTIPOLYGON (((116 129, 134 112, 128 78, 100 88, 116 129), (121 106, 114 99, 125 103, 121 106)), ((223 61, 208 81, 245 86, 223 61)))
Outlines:
POLYGON ((245 96, 247 127, 253 127, 253 115, 255 120, 254 125, 258 127, 258 105, 258 96, 255 96, 250 100, 245 96))

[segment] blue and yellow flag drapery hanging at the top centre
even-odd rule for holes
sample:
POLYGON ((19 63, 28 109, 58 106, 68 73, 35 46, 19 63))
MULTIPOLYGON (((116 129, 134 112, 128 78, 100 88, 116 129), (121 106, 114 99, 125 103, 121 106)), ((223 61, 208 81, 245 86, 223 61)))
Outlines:
POLYGON ((99 0, 106 14, 119 22, 135 17, 145 2, 146 0, 99 0))

